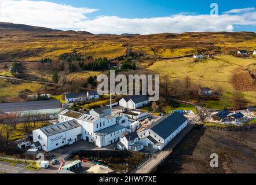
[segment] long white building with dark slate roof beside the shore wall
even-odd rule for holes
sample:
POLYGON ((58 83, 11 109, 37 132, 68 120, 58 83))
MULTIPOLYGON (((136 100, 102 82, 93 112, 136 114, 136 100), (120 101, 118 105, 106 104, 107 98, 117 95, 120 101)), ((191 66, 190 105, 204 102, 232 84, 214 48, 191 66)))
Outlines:
POLYGON ((138 133, 144 146, 163 150, 186 126, 188 119, 178 112, 169 114, 156 121, 151 128, 138 133))

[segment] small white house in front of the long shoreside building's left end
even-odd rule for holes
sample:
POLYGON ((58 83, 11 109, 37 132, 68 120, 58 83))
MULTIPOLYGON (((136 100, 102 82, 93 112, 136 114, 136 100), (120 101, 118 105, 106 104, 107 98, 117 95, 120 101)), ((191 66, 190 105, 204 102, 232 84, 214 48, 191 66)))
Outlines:
POLYGON ((140 151, 144 149, 144 145, 139 140, 140 138, 136 132, 124 135, 121 137, 120 142, 118 143, 118 149, 140 151))

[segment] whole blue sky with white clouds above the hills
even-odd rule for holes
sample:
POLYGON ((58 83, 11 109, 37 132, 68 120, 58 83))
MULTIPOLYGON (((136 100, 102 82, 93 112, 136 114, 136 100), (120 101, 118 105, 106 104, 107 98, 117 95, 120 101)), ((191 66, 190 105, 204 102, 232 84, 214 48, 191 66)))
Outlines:
POLYGON ((256 1, 0 0, 0 21, 93 34, 256 32, 256 1))

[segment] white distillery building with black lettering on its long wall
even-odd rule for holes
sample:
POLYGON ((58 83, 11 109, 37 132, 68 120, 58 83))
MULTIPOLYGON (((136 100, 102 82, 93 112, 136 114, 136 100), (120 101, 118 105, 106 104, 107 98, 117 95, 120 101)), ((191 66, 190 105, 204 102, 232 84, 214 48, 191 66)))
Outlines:
POLYGON ((82 127, 75 120, 50 125, 33 131, 33 141, 49 152, 82 139, 82 127))

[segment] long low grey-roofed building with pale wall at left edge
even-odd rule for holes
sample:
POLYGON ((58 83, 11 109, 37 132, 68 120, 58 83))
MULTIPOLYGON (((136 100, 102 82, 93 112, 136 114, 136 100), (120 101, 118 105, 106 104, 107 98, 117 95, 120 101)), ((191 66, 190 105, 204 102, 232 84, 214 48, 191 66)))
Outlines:
POLYGON ((49 115, 50 119, 55 119, 61 111, 59 100, 53 101, 34 101, 34 102, 14 102, 0 103, 0 113, 17 113, 20 116, 49 115))

